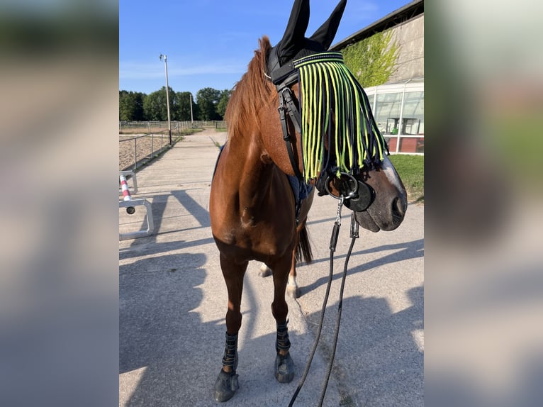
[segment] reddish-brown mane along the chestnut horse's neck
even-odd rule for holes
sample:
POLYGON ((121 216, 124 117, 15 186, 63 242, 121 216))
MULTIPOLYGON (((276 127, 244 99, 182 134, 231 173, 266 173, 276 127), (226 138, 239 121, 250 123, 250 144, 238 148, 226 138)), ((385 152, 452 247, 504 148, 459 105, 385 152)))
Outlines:
POLYGON ((264 35, 258 43, 259 49, 254 51, 247 72, 243 74, 240 82, 235 84, 226 108, 225 120, 228 123, 229 138, 239 135, 242 129, 250 128, 259 109, 276 96, 264 76, 266 55, 271 48, 269 38, 264 35))

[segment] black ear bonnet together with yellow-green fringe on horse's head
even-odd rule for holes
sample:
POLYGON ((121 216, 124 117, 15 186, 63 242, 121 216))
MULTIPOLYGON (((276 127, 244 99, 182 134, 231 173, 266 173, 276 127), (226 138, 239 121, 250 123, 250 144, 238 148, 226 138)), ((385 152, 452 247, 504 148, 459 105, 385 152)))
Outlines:
POLYGON ((341 0, 328 20, 306 38, 309 0, 296 0, 283 38, 267 55, 267 77, 279 92, 279 116, 291 165, 304 182, 319 174, 340 177, 356 174, 364 166, 372 169, 387 150, 362 86, 341 52, 328 52, 346 4, 341 0), (297 82, 300 94, 295 98, 290 87, 297 82), (293 155, 287 118, 301 134, 303 174, 293 155))

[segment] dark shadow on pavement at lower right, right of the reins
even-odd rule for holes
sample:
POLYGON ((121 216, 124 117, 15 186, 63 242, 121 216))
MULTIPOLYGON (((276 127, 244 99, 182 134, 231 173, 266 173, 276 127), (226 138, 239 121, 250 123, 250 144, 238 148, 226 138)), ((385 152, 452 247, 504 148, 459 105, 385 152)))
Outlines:
MULTIPOLYGON (((343 401, 356 406, 424 405, 424 350, 415 339, 424 329, 424 288, 407 294, 413 305, 397 313, 391 313, 386 299, 356 296, 343 301, 334 364, 343 401)), ((330 355, 336 316, 337 303, 325 314, 319 345, 325 355, 330 355)), ((308 316, 313 329, 319 319, 320 312, 308 316)))

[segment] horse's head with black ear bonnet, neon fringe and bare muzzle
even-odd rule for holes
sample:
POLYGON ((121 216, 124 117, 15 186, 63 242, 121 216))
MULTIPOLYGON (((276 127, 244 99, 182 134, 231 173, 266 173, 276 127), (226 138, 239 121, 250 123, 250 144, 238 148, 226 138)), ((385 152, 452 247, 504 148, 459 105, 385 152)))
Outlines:
POLYGON ((294 2, 283 38, 267 50, 266 76, 279 94, 281 120, 275 111, 275 135, 262 129, 263 143, 284 172, 315 184, 320 195, 345 196, 363 228, 393 230, 407 208, 405 187, 362 86, 340 52, 327 52, 346 3, 306 38, 309 0, 294 2), (286 144, 277 140, 279 126, 286 144))

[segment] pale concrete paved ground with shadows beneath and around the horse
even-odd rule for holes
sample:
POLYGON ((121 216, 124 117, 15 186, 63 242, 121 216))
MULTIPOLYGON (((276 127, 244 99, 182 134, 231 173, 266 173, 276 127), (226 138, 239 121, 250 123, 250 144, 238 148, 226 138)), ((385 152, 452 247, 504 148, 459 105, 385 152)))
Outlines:
MULTIPOLYGON (((119 242, 119 406, 214 406, 223 355, 226 289, 211 237, 208 196, 225 133, 186 137, 138 172, 138 194, 152 202, 157 233, 119 242)), ((130 184, 130 182, 129 182, 130 184)), ((273 283, 250 263, 242 299, 237 373, 225 406, 287 406, 313 345, 329 273, 337 201, 315 196, 309 233, 315 262, 298 268, 301 297, 288 299, 291 354, 298 374, 274 379, 273 283)), ((121 233, 143 228, 145 209, 119 211, 121 233)), ((330 343, 349 245, 344 211, 323 339, 330 343)), ((325 406, 423 405, 424 213, 410 205, 393 232, 361 230, 343 301, 340 340, 325 406)), ((295 406, 315 406, 329 347, 323 345, 295 406)))

